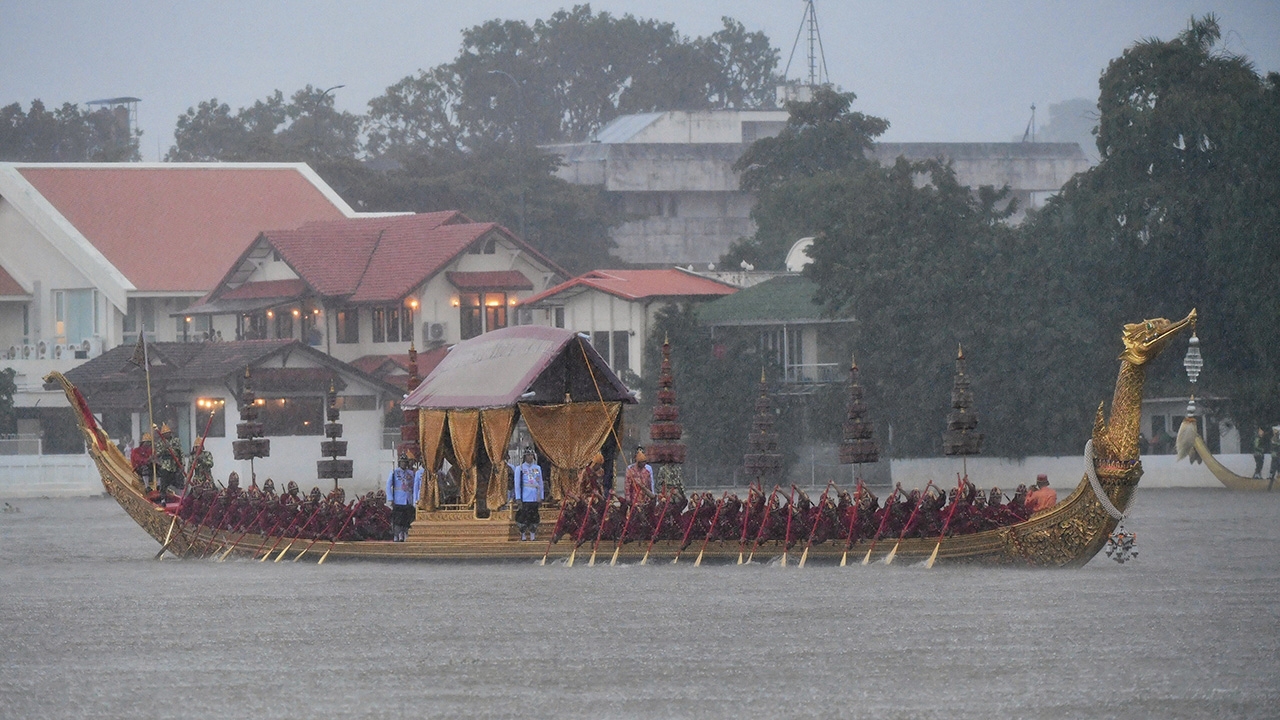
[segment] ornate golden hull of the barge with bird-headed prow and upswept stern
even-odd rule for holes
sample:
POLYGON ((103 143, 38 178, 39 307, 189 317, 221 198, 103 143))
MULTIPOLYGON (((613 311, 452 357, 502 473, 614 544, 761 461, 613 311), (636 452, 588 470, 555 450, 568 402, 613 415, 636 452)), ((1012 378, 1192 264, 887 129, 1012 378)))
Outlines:
MULTIPOLYGON (((1142 478, 1142 464, 1138 460, 1138 429, 1140 419, 1142 389, 1147 360, 1158 354, 1169 340, 1190 325, 1196 318, 1193 310, 1183 320, 1147 320, 1125 327, 1125 352, 1121 355, 1120 377, 1116 380, 1111 415, 1103 421, 1102 409, 1093 428, 1093 445, 1100 487, 1107 501, 1117 509, 1125 509, 1142 478)), ((575 550, 573 542, 562 538, 550 546, 547 542, 521 542, 513 524, 511 511, 494 511, 488 519, 476 519, 470 510, 420 511, 410 530, 407 542, 384 541, 319 541, 310 538, 279 538, 260 534, 244 534, 212 530, 195 523, 174 521, 173 515, 146 498, 140 480, 133 474, 128 459, 111 443, 93 421, 79 392, 61 374, 52 373, 46 382, 59 382, 67 393, 72 407, 78 407, 77 419, 84 432, 90 456, 97 465, 106 492, 120 503, 120 507, 142 527, 163 548, 179 557, 228 556, 262 559, 265 548, 276 550, 273 559, 282 560, 320 560, 329 559, 372 559, 372 560, 513 560, 532 561, 549 555, 549 560, 567 559, 575 555, 579 562, 588 561, 591 543, 575 550)), ((559 510, 544 507, 541 527, 549 530, 556 525, 559 510)), ((1037 512, 1028 520, 980 533, 948 536, 945 538, 911 538, 897 541, 881 539, 872 550, 870 560, 883 560, 893 553, 895 562, 923 562, 934 552, 937 564, 950 565, 1014 565, 1033 568, 1078 568, 1093 559, 1107 537, 1115 530, 1119 520, 1102 505, 1092 483, 1085 475, 1075 491, 1056 506, 1037 512)), ((649 562, 660 562, 684 557, 691 562, 701 543, 680 552, 680 543, 658 542, 652 550, 648 543, 632 542, 616 548, 614 543, 602 543, 598 557, 611 559, 617 550, 623 561, 640 560, 646 555, 649 562)), ((750 544, 750 543, 748 543, 750 544)), ((762 543, 755 550, 759 561, 782 556, 800 560, 803 543, 792 544, 787 551, 781 542, 762 543)), ((869 541, 858 541, 847 551, 847 557, 858 561, 867 557, 869 541)), ((741 556, 742 546, 737 542, 714 541, 701 551, 704 561, 733 562, 741 556)), ((808 550, 806 564, 836 564, 846 557, 842 541, 815 544, 808 550)))

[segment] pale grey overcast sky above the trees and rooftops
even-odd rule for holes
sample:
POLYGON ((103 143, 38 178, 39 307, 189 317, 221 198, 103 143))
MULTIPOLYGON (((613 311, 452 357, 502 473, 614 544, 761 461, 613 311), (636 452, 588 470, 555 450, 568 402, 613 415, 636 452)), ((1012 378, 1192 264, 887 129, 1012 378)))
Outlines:
MULTIPOLYGON (((233 109, 279 88, 344 85, 337 106, 370 99, 420 68, 452 60, 461 31, 493 18, 532 20, 549 0, 0 0, 0 105, 141 97, 142 154, 173 143, 175 119, 218 97, 233 109)), ((596 12, 676 23, 699 36, 730 15, 763 29, 786 64, 801 0, 604 0, 596 12)), ((1009 141, 1039 110, 1097 100, 1110 59, 1215 13, 1226 50, 1280 70, 1280 1, 818 0, 831 81, 855 109, 887 118, 887 141, 1009 141)), ((796 53, 791 77, 805 65, 796 53)))

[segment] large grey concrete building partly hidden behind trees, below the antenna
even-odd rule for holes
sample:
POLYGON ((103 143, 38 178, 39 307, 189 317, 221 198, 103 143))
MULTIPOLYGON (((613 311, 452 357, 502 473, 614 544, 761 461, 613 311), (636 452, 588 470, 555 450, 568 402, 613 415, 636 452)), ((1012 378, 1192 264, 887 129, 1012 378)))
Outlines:
MULTIPOLYGON (((612 233, 620 259, 703 270, 733 241, 755 233, 751 196, 740 190, 732 167, 750 143, 782 132, 786 120, 785 110, 644 113, 613 119, 588 142, 545 149, 563 158, 559 177, 602 186, 632 217, 612 233)), ((1009 184, 1024 209, 1089 167, 1076 143, 900 142, 874 150, 882 164, 900 155, 946 158, 972 187, 1009 184)))

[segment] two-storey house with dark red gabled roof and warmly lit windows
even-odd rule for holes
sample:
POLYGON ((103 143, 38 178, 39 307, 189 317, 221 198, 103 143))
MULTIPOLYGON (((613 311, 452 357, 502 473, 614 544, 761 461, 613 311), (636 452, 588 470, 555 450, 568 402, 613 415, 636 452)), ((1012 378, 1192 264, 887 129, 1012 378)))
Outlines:
MULTIPOLYGON (((269 229, 183 311, 236 338, 300 338, 344 360, 429 350, 515 324, 521 296, 566 273, 494 223, 458 211, 269 229)), ((370 365, 370 366, 374 366, 370 365)))

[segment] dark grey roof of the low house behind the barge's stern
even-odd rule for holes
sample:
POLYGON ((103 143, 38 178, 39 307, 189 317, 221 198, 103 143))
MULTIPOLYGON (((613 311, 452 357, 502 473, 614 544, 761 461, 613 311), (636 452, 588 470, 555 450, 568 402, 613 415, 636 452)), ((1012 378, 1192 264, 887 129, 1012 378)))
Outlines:
MULTIPOLYGON (((104 401, 111 407, 143 407, 146 405, 145 373, 142 368, 131 363, 133 354, 134 346, 120 345, 68 370, 67 379, 84 392, 84 397, 93 407, 104 406, 104 401), (101 395, 104 401, 95 405, 96 395, 101 395)), ((255 368, 285 354, 306 355, 319 368, 262 368, 261 374, 255 370, 251 377, 255 388, 298 391, 311 387, 316 392, 323 392, 326 389, 329 379, 335 378, 340 384, 340 375, 346 374, 360 378, 388 393, 403 393, 403 389, 296 340, 246 340, 148 343, 152 395, 163 393, 165 389, 191 389, 218 382, 236 386, 238 378, 243 377, 246 366, 255 368), (279 370, 291 372, 280 373, 279 370), (302 387, 308 382, 312 384, 302 387)))

